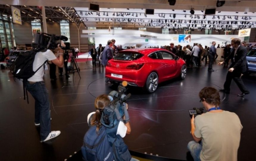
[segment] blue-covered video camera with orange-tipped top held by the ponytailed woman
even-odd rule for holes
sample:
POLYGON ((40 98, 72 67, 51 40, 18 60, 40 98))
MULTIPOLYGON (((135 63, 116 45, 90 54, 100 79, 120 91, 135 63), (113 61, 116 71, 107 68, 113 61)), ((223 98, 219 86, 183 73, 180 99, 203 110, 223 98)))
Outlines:
POLYGON ((110 105, 105 107, 102 112, 100 123, 107 128, 113 128, 118 121, 124 123, 129 122, 129 114, 126 108, 125 101, 131 96, 131 94, 125 95, 127 81, 123 81, 118 86, 118 91, 111 91, 108 96, 110 98, 110 105), (125 120, 123 120, 125 116, 125 120))

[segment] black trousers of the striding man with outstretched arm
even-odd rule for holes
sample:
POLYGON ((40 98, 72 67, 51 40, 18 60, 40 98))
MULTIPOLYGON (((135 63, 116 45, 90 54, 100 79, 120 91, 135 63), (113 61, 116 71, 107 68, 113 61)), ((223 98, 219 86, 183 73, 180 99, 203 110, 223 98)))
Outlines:
POLYGON ((234 71, 228 72, 226 81, 224 83, 224 89, 226 91, 230 91, 230 84, 233 79, 235 81, 235 83, 237 84, 238 88, 240 89, 240 91, 245 92, 245 93, 249 92, 248 89, 243 84, 243 80, 240 78, 241 74, 242 74, 241 72, 234 72, 234 71))

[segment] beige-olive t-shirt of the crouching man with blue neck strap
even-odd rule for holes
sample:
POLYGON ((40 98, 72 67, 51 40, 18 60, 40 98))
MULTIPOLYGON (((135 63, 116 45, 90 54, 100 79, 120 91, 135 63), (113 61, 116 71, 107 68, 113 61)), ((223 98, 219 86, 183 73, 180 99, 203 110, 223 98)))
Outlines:
POLYGON ((202 137, 202 161, 236 161, 243 128, 234 112, 206 112, 195 118, 195 136, 202 137))

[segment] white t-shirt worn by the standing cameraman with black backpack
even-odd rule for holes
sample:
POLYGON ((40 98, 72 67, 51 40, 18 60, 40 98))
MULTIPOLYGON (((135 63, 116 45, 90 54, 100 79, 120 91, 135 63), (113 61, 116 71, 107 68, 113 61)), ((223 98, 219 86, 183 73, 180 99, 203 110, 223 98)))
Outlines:
MULTIPOLYGON (((35 55, 35 60, 33 62, 33 71, 36 71, 46 60, 54 60, 57 59, 51 50, 47 50, 46 52, 38 52, 35 55)), ((31 77, 28 81, 31 82, 40 82, 43 81, 43 66, 31 77)))

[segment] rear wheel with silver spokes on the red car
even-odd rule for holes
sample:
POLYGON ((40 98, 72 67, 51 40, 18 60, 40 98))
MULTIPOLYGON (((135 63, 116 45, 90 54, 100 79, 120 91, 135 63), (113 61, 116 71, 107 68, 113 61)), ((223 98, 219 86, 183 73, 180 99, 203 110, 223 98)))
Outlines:
POLYGON ((158 75, 157 73, 152 72, 149 74, 144 88, 146 89, 147 92, 153 93, 154 91, 156 91, 157 86, 158 86, 158 75))

